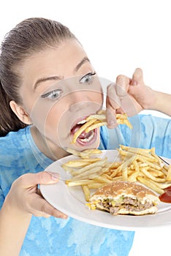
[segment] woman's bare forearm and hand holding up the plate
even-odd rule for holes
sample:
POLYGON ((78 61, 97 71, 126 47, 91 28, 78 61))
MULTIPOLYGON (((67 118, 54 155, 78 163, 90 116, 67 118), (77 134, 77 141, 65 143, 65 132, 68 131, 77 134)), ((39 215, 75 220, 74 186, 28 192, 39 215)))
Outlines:
POLYGON ((47 172, 24 174, 13 182, 0 211, 0 255, 19 255, 32 215, 66 219, 37 190, 37 184, 56 182, 58 178, 47 172))

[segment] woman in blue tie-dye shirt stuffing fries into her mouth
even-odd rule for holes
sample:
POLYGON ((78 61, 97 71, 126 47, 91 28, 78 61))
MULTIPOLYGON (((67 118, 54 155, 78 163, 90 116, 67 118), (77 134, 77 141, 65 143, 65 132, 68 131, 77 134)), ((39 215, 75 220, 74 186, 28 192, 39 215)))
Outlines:
POLYGON ((66 147, 80 151, 114 149, 119 143, 150 147, 165 138, 159 153, 169 157, 170 119, 162 120, 162 132, 152 127, 148 134, 148 125, 158 124, 160 118, 134 116, 130 133, 117 127, 115 113, 132 116, 154 109, 170 114, 163 105, 164 100, 169 104, 170 95, 145 86, 141 69, 132 79, 120 75, 119 86, 107 87, 107 124, 115 129, 83 133, 71 144, 73 131, 103 105, 99 78, 76 37, 53 20, 23 20, 2 42, 0 61, 0 254, 129 255, 134 232, 67 218, 39 194, 37 184, 58 182, 56 173, 43 170, 68 155, 66 147))

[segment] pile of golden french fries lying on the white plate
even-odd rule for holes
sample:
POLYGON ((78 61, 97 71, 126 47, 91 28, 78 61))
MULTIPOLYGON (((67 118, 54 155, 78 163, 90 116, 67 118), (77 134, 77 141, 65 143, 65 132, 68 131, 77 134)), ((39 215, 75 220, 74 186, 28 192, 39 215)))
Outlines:
POLYGON ((121 161, 118 162, 109 162, 107 157, 96 157, 101 153, 99 150, 73 152, 80 158, 62 165, 72 175, 66 184, 69 187, 81 186, 86 201, 91 197, 91 189, 113 181, 140 182, 159 195, 164 193, 164 188, 171 186, 171 165, 165 165, 155 154, 155 148, 120 145, 118 153, 121 161))

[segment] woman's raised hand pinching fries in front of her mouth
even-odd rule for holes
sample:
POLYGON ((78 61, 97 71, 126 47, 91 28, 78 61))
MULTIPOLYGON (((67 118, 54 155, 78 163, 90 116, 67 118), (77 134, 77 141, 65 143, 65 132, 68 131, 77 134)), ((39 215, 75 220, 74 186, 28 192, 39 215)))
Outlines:
POLYGON ((118 75, 116 83, 107 86, 107 126, 114 128, 118 125, 116 113, 134 116, 141 110, 149 109, 154 101, 154 91, 145 86, 142 69, 135 69, 132 78, 118 75))

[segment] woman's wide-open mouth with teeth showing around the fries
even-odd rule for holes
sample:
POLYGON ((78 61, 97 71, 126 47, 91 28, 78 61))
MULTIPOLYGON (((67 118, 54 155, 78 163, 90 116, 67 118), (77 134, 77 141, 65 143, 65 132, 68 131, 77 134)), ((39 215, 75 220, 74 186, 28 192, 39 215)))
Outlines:
MULTIPOLYGON (((81 121, 78 121, 77 124, 74 125, 71 129, 71 135, 74 136, 75 133, 83 127, 84 124, 86 124, 86 119, 83 119, 81 121)), ((96 140, 96 129, 93 129, 89 132, 86 132, 83 130, 83 132, 80 133, 80 135, 77 137, 77 143, 80 143, 81 145, 87 145, 90 143, 93 143, 94 140, 96 140)))

